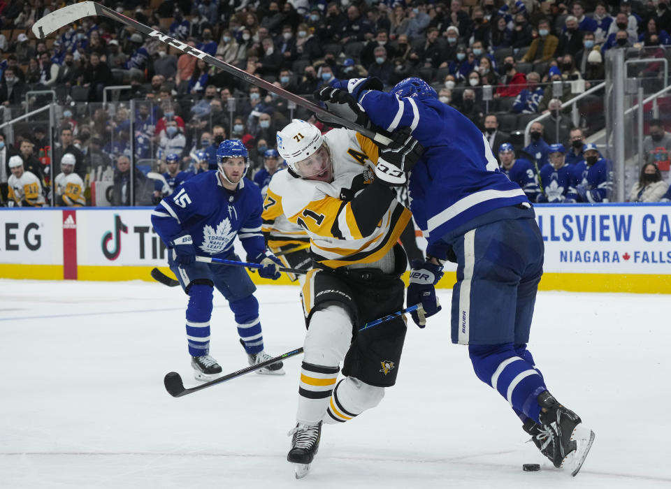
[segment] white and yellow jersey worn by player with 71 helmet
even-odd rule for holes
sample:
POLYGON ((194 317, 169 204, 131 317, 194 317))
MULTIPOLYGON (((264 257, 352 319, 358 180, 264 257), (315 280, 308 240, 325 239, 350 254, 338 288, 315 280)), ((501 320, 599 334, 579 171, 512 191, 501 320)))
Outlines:
POLYGON ((410 220, 410 211, 397 200, 370 235, 362 235, 350 201, 373 181, 377 145, 349 129, 324 134, 333 162, 333 182, 296 178, 278 172, 268 185, 264 216, 276 219, 284 214, 310 236, 310 251, 330 268, 373 263, 394 247, 410 220))

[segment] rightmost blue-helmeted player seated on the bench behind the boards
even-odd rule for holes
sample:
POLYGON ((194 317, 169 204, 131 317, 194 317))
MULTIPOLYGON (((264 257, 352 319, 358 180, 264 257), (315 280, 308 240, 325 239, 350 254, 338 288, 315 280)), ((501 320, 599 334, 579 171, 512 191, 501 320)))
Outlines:
POLYGON ((566 200, 570 202, 608 202, 612 187, 612 163, 603 158, 594 143, 584 145, 584 160, 571 168, 566 200))

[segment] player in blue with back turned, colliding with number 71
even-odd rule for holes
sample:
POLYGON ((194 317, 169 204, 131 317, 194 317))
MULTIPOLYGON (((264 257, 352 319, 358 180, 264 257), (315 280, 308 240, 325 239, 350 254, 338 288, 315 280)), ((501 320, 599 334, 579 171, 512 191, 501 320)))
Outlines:
MULTIPOLYGON (((500 172, 482 132, 438 101, 421 78, 390 93, 375 79, 331 82, 322 101, 347 105, 385 131, 410 127, 425 151, 410 176, 410 210, 428 240, 413 263, 407 304, 440 311, 434 286, 442 263, 458 263, 452 342, 467 344, 477 377, 510 403, 540 451, 577 474, 594 435, 549 393, 526 344, 542 275, 543 238, 524 191, 500 172)), ((403 171, 403 168, 398 168, 403 171)), ((426 316, 412 314, 420 326, 426 316)))

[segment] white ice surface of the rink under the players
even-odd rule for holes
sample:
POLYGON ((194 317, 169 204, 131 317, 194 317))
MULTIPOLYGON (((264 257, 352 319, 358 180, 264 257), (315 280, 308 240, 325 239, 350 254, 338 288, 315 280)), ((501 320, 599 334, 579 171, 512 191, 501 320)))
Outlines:
MULTIPOLYGON (((301 346, 298 289, 263 286, 257 298, 267 351, 301 346)), ((0 488, 671 487, 668 295, 538 295, 530 349, 551 392, 596 432, 575 479, 525 443, 507 402, 475 377, 466 347, 449 342, 449 291, 440 299, 426 329, 409 324, 397 385, 326 426, 296 481, 285 457, 300 356, 284 377, 175 399, 167 372, 196 385, 179 288, 0 280, 0 488), (529 462, 541 472, 522 472, 529 462)), ((225 373, 247 365, 220 296, 211 353, 225 373)))

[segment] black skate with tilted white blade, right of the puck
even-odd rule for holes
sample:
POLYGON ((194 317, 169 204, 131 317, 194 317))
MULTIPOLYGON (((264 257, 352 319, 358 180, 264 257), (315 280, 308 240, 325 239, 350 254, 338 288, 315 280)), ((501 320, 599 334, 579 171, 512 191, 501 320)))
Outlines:
POLYGON ((586 428, 577 414, 559 404, 548 391, 538 395, 538 404, 544 411, 539 416, 540 425, 531 428, 532 431, 539 431, 533 438, 534 443, 555 467, 575 476, 589 453, 594 432, 586 428))

